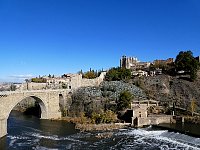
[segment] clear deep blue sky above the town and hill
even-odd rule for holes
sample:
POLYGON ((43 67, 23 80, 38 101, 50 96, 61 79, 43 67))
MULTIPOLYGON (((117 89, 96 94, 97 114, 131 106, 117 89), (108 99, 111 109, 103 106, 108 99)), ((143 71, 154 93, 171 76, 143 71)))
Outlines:
POLYGON ((199 0, 0 0, 0 81, 181 50, 200 55, 199 0))

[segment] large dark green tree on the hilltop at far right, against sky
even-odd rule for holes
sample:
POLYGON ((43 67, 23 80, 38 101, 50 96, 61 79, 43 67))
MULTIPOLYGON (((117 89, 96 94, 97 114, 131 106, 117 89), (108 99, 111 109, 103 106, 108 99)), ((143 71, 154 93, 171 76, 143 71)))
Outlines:
POLYGON ((197 77, 197 71, 200 64, 193 57, 193 53, 191 51, 181 51, 176 56, 175 66, 177 71, 184 70, 190 75, 190 79, 194 81, 197 77))

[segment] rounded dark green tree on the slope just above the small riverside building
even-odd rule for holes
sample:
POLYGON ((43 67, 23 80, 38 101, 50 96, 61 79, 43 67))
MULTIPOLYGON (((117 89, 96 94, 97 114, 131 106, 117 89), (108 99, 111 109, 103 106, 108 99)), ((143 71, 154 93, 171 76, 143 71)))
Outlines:
POLYGON ((128 108, 131 104, 131 99, 133 95, 129 91, 124 91, 120 93, 119 100, 117 102, 117 110, 124 110, 128 108))

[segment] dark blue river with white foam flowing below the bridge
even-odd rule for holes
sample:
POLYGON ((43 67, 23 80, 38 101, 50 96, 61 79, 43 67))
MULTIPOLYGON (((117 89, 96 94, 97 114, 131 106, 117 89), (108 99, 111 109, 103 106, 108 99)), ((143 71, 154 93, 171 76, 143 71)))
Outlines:
POLYGON ((72 124, 40 120, 12 112, 8 135, 1 139, 0 149, 120 149, 120 150, 200 150, 200 139, 188 135, 153 129, 120 129, 109 132, 109 138, 98 138, 101 132, 79 132, 72 124))

